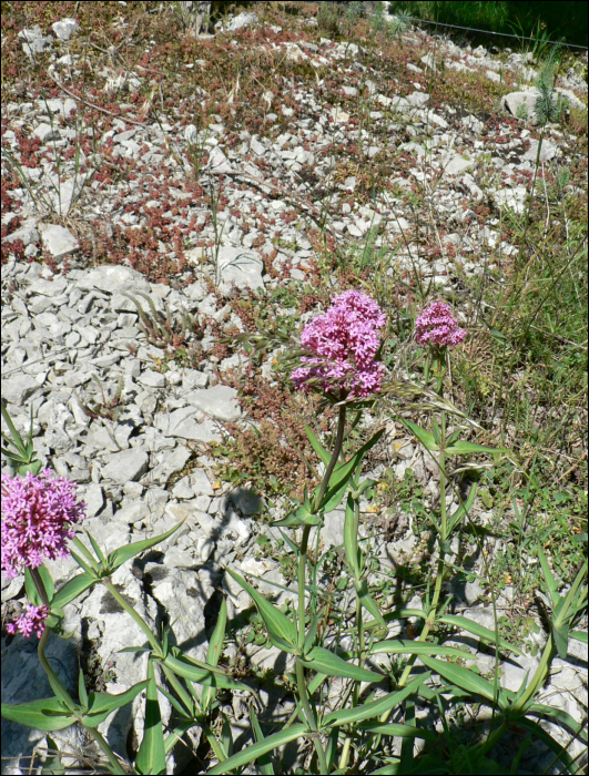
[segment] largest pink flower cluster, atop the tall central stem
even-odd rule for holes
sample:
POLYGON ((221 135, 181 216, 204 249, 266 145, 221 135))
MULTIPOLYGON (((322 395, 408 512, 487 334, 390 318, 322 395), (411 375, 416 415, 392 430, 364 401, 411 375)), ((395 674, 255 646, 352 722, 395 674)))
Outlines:
POLYGON ((345 391, 349 398, 364 398, 380 389, 385 367, 374 357, 380 344, 378 329, 386 316, 366 294, 347 290, 332 299, 332 307, 303 329, 301 344, 313 356, 303 356, 309 366, 292 374, 297 388, 308 391, 313 384, 322 390, 345 391))

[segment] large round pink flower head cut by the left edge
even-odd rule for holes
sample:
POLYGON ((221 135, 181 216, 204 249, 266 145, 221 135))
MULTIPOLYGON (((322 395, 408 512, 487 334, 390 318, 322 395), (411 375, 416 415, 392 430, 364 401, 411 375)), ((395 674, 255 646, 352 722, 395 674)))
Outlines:
POLYGON ((51 474, 50 469, 37 477, 30 471, 27 477, 2 474, 2 571, 8 579, 47 559, 67 558, 65 541, 85 518, 85 503, 75 500, 77 486, 51 474))

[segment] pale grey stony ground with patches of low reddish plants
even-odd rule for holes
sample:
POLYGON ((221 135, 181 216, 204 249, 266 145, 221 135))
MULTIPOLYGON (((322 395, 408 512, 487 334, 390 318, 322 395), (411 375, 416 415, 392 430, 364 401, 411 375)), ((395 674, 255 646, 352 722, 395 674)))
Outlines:
MULTIPOLYGON (((280 431, 304 446, 311 410, 277 374, 281 341, 296 338, 333 293, 374 279, 366 246, 402 330, 399 310, 418 309, 416 287, 431 284, 476 333, 469 278, 500 282, 518 252, 506 214, 524 214, 536 166, 538 65, 418 29, 397 29, 395 57, 385 55, 378 37, 331 39, 307 3, 294 16, 257 3, 197 39, 171 3, 103 3, 89 20, 82 10, 77 21, 51 16, 72 6, 73 17, 78 4, 50 3, 37 18, 30 7, 42 3, 24 3, 29 23, 22 9, 18 23, 3 22, 2 397, 20 430, 32 406, 35 450, 79 483, 84 525, 103 549, 187 518, 170 544, 123 565, 113 582, 154 627, 173 622, 176 643, 202 658, 220 593, 231 617, 250 607, 224 565, 263 578, 261 590, 274 595, 291 581, 288 551, 267 522, 307 476, 280 431), (262 357, 220 339, 240 334, 251 344, 270 337, 262 357)), ((568 108, 546 126, 539 162, 568 167, 580 200, 579 72, 571 64, 557 82, 568 108)), ((372 467, 383 498, 364 504, 365 535, 378 559, 373 581, 393 595, 403 592, 400 566, 428 562, 428 535, 386 502, 395 489, 385 472, 435 504, 437 471, 393 420, 372 467)), ((477 502, 475 513, 492 524, 489 506, 477 502)), ((327 564, 337 564, 342 525, 342 512, 326 515, 327 564)), ((453 551, 468 554, 458 542, 453 551)), ((73 560, 48 565, 55 586, 77 571, 73 560)), ((480 568, 474 562, 471 581, 456 584, 455 602, 492 627, 480 568)), ((65 630, 75 639, 51 641, 72 690, 80 658, 109 692, 144 678, 145 661, 119 654, 142 635, 108 598, 95 588, 70 605, 65 630)), ((3 621, 23 602, 23 578, 2 575, 3 621)), ((499 607, 514 605, 507 585, 499 607)), ((545 639, 536 630, 530 649, 545 639)), ((8 703, 50 694, 34 641, 2 640, 8 703)), ((571 644, 542 696, 581 721, 587 649, 571 644)), ((501 664, 504 686, 517 690, 534 670, 531 652, 501 664)), ((270 668, 284 672, 276 657, 250 622, 233 633, 224 664, 262 681, 270 668)), ((492 657, 478 657, 481 673, 492 672, 492 657)), ((286 686, 261 686, 275 718, 290 714, 286 686)), ((244 698, 227 707, 238 732, 244 698)), ((139 709, 101 726, 114 747, 131 752, 141 739, 139 709)), ((21 773, 42 734, 4 722, 2 731, 6 773, 21 773)), ((83 748, 79 735, 62 738, 83 748)), ((522 767, 536 773, 540 754, 528 751, 522 767)), ((169 773, 190 762, 183 751, 174 756, 169 773)))

